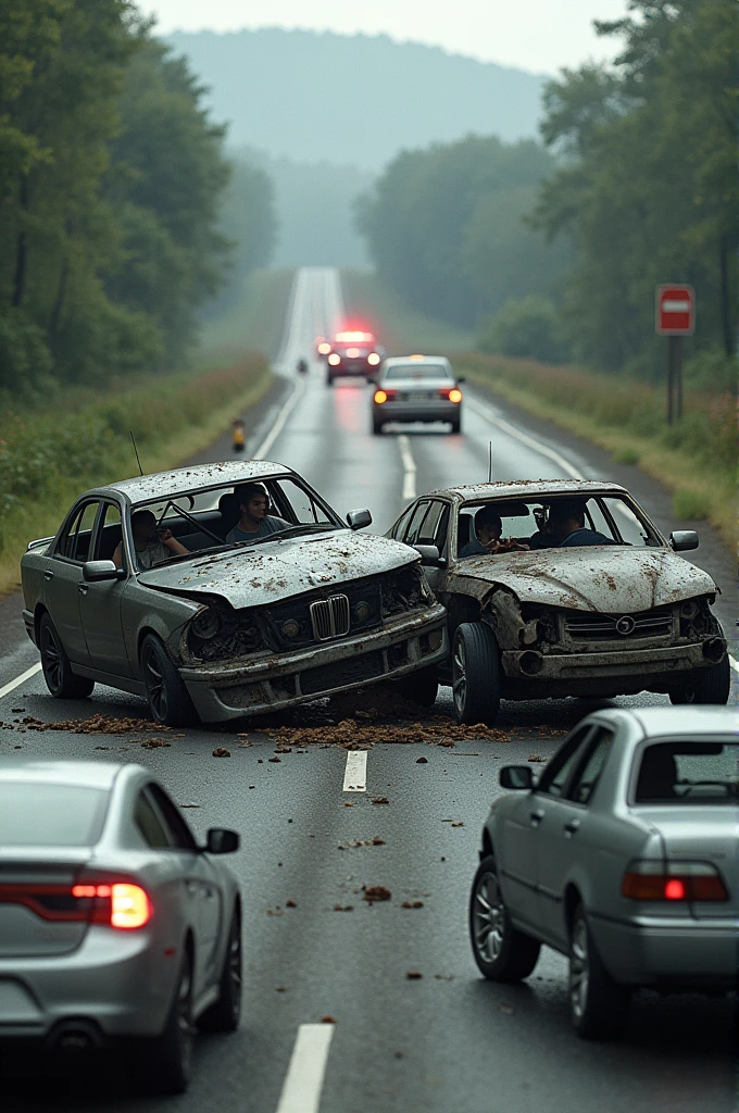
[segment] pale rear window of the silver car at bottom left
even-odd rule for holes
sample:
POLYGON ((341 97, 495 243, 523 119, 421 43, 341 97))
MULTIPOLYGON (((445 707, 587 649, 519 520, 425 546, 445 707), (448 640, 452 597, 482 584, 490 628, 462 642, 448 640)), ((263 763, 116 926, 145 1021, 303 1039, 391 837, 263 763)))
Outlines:
POLYGON ((108 794, 79 785, 0 782, 0 846, 92 846, 108 794))

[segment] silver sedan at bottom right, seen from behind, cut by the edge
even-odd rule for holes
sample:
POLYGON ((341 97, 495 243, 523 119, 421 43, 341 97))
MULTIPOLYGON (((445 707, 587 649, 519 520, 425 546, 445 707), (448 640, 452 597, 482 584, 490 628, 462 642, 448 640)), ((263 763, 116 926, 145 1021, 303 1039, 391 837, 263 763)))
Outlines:
POLYGON ((739 712, 598 711, 534 780, 508 766, 472 886, 480 971, 570 958, 574 1027, 615 1035, 630 992, 725 993, 739 966, 739 712))

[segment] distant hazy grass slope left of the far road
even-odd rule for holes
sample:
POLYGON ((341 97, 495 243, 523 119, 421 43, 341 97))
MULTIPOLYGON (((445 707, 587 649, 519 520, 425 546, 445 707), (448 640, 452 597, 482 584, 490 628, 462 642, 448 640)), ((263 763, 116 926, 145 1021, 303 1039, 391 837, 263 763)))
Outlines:
POLYGON ((235 352, 264 352, 275 356, 283 336, 295 272, 253 270, 246 276, 234 301, 220 313, 208 317, 200 327, 201 353, 208 358, 235 352))

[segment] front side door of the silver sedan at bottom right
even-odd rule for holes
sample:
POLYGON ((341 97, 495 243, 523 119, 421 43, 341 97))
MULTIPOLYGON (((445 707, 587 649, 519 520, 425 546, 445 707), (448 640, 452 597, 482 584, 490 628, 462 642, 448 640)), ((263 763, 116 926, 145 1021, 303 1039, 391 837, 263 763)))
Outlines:
POLYGON ((518 794, 515 804, 502 815, 501 846, 495 848, 501 883, 511 912, 521 920, 541 929, 541 902, 538 893, 539 858, 549 836, 546 808, 561 795, 582 757, 592 727, 574 730, 544 769, 540 784, 531 792, 518 794))

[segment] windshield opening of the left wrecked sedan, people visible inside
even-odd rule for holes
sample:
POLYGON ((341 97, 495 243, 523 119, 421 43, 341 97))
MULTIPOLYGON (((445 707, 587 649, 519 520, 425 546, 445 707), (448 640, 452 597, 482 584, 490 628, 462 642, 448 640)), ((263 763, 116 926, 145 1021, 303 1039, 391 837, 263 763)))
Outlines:
POLYGON ((255 544, 280 533, 346 529, 309 487, 296 476, 285 475, 189 494, 173 493, 135 506, 131 524, 140 510, 150 511, 154 522, 148 520, 146 538, 132 539, 139 568, 183 560, 190 553, 255 544), (169 538, 160 540, 166 531, 177 545, 167 546, 169 538), (142 552, 149 550, 150 555, 142 558, 142 552))

